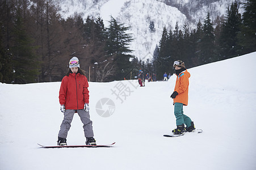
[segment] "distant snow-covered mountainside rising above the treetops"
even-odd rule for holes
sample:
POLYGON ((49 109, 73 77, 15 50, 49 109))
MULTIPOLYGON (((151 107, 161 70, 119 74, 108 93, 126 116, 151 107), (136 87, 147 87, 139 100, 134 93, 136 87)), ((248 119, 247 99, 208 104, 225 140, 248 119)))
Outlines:
MULTIPOLYGON (((159 44, 163 27, 174 30, 176 22, 179 29, 183 29, 186 22, 190 28, 196 28, 199 19, 203 21, 207 12, 211 19, 217 15, 225 15, 227 7, 233 0, 57 0, 61 8, 61 15, 68 18, 74 13, 80 14, 84 19, 87 16, 97 18, 101 16, 108 27, 108 21, 112 15, 117 22, 125 23, 131 27, 133 38, 131 43, 132 53, 142 61, 153 58, 156 45, 159 44), (154 23, 156 31, 150 31, 149 25, 154 23)), ((245 0, 238 0, 245 2, 245 0)), ((240 12, 242 8, 240 7, 240 12)))

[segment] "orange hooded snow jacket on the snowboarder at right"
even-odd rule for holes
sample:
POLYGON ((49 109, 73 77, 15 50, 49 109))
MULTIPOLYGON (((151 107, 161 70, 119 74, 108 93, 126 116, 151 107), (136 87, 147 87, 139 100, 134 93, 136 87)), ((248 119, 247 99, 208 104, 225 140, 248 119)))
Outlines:
POLYGON ((190 84, 188 78, 190 78, 190 73, 187 70, 177 76, 174 91, 177 91, 178 95, 173 99, 174 103, 188 104, 188 85, 190 84))

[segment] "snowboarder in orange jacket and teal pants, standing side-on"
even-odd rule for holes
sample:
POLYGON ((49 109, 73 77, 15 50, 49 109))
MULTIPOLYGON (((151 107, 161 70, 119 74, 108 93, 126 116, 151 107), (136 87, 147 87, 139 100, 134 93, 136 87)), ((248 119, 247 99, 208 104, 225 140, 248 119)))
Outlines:
POLYGON ((190 117, 183 114, 183 105, 188 104, 188 78, 190 78, 190 73, 188 73, 185 63, 181 60, 174 61, 173 67, 175 68, 177 79, 171 98, 173 98, 177 128, 172 132, 173 134, 182 134, 185 131, 191 132, 195 129, 194 122, 191 121, 190 117))

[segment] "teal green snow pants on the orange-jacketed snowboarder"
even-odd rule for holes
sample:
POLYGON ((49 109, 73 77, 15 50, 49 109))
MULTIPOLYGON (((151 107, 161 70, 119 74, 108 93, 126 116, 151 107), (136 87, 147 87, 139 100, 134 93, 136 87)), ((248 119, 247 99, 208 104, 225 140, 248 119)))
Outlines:
POLYGON ((183 114, 183 104, 182 103, 175 103, 174 104, 174 115, 176 117, 176 125, 185 124, 187 127, 191 126, 191 119, 190 117, 183 114))

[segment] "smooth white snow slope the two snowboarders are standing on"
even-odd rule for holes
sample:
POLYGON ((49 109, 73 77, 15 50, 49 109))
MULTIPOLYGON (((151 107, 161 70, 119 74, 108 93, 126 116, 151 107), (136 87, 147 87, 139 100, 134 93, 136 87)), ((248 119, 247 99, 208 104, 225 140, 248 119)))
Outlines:
MULTIPOLYGON (((116 142, 112 148, 39 148, 36 143, 57 143, 60 82, 0 83, 0 169, 256 169, 255 63, 256 52, 189 69, 184 113, 204 131, 178 138, 162 136, 175 128, 175 76, 145 87, 136 80, 90 82, 95 139, 98 145, 116 142), (120 86, 126 96, 114 95, 120 86), (99 107, 106 97, 114 109, 99 107), (96 108, 113 114, 102 117, 96 108)), ((85 143, 77 114, 67 142, 85 143)))

